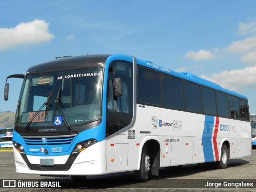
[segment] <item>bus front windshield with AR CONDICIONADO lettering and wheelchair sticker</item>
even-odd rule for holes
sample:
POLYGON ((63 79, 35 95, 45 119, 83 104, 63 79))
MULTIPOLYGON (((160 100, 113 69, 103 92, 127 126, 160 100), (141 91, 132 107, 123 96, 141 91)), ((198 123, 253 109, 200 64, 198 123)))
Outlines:
POLYGON ((19 126, 78 125, 100 118, 102 68, 27 75, 20 94, 19 126))

